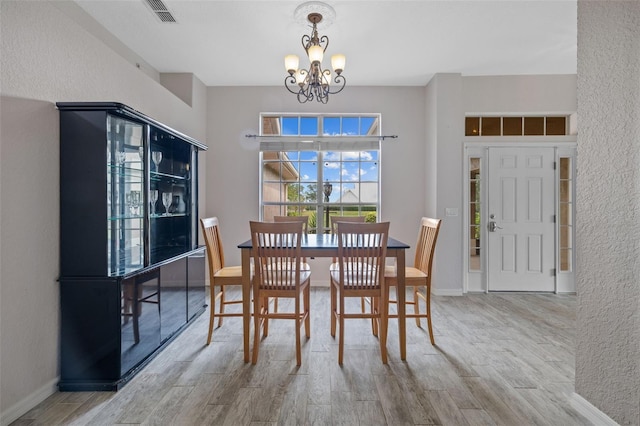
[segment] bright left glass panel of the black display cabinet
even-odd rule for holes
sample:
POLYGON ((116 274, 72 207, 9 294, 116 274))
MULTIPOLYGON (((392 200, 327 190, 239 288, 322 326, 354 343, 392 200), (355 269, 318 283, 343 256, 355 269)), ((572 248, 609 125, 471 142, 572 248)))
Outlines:
POLYGON ((107 116, 107 232, 110 276, 144 267, 145 125, 107 116))

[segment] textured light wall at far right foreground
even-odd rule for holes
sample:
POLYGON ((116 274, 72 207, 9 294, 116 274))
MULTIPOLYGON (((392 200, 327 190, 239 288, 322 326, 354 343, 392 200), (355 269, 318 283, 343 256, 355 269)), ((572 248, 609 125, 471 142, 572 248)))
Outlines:
POLYGON ((640 2, 578 2, 576 392, 640 424, 640 2))

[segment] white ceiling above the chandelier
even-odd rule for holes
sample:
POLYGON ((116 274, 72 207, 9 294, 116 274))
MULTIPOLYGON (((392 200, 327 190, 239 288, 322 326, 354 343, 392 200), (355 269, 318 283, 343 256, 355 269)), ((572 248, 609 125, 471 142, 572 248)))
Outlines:
MULTIPOLYGON (((310 27, 294 18, 303 1, 163 1, 177 23, 162 23, 145 0, 75 3, 145 66, 194 73, 207 86, 281 85, 286 54, 304 64, 300 39, 310 27)), ((326 3, 336 16, 319 33, 330 39, 326 56, 347 56, 348 85, 422 86, 435 73, 576 73, 576 0, 326 3)))

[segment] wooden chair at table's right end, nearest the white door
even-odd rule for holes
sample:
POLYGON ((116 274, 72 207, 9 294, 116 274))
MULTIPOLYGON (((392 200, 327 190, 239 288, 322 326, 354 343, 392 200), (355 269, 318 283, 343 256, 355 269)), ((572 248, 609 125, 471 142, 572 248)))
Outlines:
MULTIPOLYGON (((406 299, 406 305, 413 305, 413 313, 407 312, 407 318, 415 318, 416 325, 420 327, 420 318, 426 318, 427 328, 431 344, 435 345, 433 338, 433 328, 431 325, 431 276, 433 266, 433 255, 436 250, 436 241, 440 232, 441 219, 423 217, 420 220, 420 230, 418 232, 418 242, 416 244, 416 256, 413 266, 405 267, 406 288, 413 287, 413 300, 406 299), (425 312, 420 313, 419 301, 425 302, 425 312)), ((385 281, 389 287, 396 287, 397 268, 387 266, 385 269, 385 281)), ((389 300, 389 303, 397 303, 396 300, 389 300)), ((397 318, 397 314, 389 314, 389 318, 397 318)))

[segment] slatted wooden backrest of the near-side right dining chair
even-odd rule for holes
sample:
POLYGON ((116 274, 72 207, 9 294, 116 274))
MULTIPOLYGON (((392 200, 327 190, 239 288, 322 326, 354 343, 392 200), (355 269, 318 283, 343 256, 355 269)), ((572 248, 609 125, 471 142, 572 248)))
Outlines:
POLYGON ((344 288, 370 290, 384 283, 389 222, 338 222, 338 263, 344 288))

